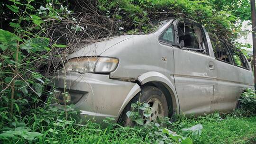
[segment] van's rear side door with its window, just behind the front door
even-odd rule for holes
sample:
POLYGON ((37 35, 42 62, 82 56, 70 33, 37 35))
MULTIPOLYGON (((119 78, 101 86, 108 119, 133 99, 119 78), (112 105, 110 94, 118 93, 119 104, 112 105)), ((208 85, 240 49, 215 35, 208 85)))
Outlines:
POLYGON ((223 41, 211 38, 216 58, 217 85, 214 91, 212 110, 228 112, 235 108, 239 97, 238 68, 234 65, 232 53, 223 41))

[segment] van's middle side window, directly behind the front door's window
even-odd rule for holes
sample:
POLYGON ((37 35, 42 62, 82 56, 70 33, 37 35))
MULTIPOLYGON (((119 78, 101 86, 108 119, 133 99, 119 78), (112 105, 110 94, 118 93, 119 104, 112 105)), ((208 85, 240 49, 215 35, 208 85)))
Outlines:
POLYGON ((210 38, 210 41, 211 41, 215 58, 220 61, 224 61, 232 64, 232 57, 231 57, 231 54, 229 53, 227 45, 213 38, 210 38))

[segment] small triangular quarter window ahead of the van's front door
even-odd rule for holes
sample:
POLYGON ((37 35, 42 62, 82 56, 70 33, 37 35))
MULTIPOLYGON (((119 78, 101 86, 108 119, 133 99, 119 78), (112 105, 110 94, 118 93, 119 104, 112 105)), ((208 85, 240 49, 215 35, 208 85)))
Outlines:
POLYGON ((169 26, 165 31, 162 33, 162 35, 159 38, 160 41, 174 44, 174 28, 173 25, 169 26))

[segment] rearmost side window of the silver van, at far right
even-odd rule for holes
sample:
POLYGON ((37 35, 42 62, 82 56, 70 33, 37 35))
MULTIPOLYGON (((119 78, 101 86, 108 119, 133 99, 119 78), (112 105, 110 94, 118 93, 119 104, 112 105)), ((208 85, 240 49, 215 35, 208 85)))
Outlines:
POLYGON ((233 53, 234 62, 237 66, 249 69, 248 63, 243 54, 241 54, 239 51, 236 51, 236 50, 233 50, 232 53, 233 53))

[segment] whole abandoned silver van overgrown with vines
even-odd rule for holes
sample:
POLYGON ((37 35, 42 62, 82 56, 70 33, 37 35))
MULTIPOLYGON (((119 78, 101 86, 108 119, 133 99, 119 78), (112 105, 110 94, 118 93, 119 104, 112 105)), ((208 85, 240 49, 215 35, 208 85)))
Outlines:
POLYGON ((201 115, 236 108, 254 89, 246 57, 188 19, 171 19, 148 35, 125 35, 84 46, 67 56, 55 78, 54 105, 67 104, 81 118, 114 117, 129 125, 131 103, 148 103, 157 117, 201 115), (65 85, 66 83, 66 85, 65 85))

